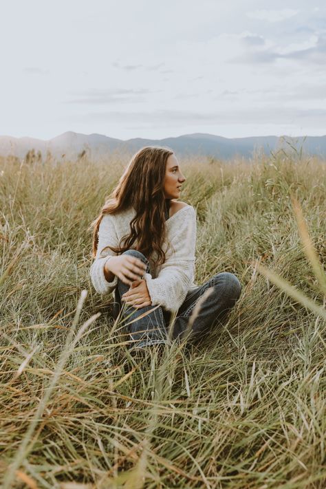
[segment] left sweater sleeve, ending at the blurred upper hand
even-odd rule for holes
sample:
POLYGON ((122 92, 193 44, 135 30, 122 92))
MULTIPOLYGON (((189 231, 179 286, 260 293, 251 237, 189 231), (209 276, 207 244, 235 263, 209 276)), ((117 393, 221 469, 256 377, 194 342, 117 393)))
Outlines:
POLYGON ((98 228, 98 250, 89 271, 91 282, 98 294, 109 294, 110 292, 113 292, 118 283, 118 276, 116 275, 111 282, 108 282, 107 279, 105 279, 105 263, 107 263, 111 257, 116 256, 116 253, 113 253, 109 248, 102 252, 102 249, 105 248, 105 246, 118 246, 116 228, 114 227, 112 216, 109 214, 104 215, 102 221, 100 221, 100 226, 98 228))

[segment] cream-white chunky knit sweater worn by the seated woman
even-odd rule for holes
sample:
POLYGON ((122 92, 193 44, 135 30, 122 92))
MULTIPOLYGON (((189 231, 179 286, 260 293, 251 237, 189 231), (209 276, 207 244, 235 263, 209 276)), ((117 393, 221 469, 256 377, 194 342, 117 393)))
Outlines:
MULTIPOLYGON (((102 252, 102 249, 105 246, 118 246, 120 239, 129 235, 129 223, 134 216, 135 210, 131 207, 118 214, 106 214, 100 221, 98 250, 90 269, 91 282, 99 294, 113 292, 118 283, 118 276, 108 282, 104 275, 105 263, 116 253, 109 249, 102 252)), ((166 252, 166 261, 160 266, 155 265, 154 252, 149 259, 150 273, 145 273, 144 279, 152 305, 160 304, 166 310, 177 311, 184 302, 188 290, 197 287, 193 282, 197 229, 195 209, 193 206, 186 205, 169 217, 165 223, 167 241, 172 244, 173 249, 168 248, 166 240, 163 241, 162 249, 166 252)), ((134 246, 135 243, 131 248, 134 246)))

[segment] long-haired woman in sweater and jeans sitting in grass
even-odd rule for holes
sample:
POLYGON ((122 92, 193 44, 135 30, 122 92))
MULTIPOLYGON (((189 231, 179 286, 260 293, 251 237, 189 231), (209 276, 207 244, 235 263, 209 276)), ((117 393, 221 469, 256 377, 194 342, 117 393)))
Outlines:
POLYGON ((91 224, 91 281, 99 294, 114 290, 115 316, 133 321, 133 351, 185 335, 199 342, 241 292, 229 272, 193 282, 196 213, 177 200, 185 180, 173 151, 145 146, 91 224))

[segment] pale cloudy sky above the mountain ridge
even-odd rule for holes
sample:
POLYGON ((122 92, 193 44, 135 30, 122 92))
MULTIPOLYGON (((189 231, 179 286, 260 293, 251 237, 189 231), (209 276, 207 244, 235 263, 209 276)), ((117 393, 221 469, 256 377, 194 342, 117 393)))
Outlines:
POLYGON ((325 0, 2 0, 0 135, 326 134, 325 0))

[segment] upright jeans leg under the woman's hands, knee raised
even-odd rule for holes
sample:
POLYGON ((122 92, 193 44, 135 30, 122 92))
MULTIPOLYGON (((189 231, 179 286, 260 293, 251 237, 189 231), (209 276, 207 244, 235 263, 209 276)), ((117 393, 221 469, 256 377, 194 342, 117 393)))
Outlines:
MULTIPOLYGON (((138 250, 127 250, 123 254, 129 254, 131 257, 136 257, 146 264, 146 272, 149 273, 149 261, 144 257, 144 254, 138 250)), ((122 282, 118 279, 118 294, 116 294, 116 300, 120 301, 120 306, 122 307, 122 318, 127 318, 126 323, 129 323, 138 316, 142 316, 145 312, 151 311, 153 305, 147 305, 145 307, 133 307, 131 305, 123 304, 121 305, 120 298, 122 295, 130 290, 127 283, 122 282), (132 314, 131 314, 132 313, 132 314)), ((131 336, 133 343, 131 347, 137 345, 138 347, 153 345, 155 343, 166 343, 166 326, 163 316, 162 307, 157 307, 155 311, 147 314, 144 318, 135 320, 134 323, 127 325, 127 330, 131 336)))

